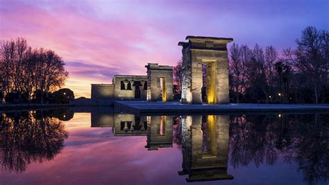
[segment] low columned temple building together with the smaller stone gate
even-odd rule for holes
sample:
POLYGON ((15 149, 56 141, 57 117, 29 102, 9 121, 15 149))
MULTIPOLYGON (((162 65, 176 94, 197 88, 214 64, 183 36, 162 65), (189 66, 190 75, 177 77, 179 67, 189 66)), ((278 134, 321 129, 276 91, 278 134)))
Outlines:
POLYGON ((173 100, 173 67, 149 63, 147 76, 115 75, 112 84, 91 84, 92 99, 173 100))

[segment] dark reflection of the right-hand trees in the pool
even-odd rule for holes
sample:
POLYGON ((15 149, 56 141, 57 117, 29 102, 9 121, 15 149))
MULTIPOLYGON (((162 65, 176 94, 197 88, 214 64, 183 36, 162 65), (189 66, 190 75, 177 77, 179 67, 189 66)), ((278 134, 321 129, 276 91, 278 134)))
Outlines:
POLYGON ((240 115, 230 118, 230 163, 298 164, 307 184, 329 177, 328 115, 240 115))

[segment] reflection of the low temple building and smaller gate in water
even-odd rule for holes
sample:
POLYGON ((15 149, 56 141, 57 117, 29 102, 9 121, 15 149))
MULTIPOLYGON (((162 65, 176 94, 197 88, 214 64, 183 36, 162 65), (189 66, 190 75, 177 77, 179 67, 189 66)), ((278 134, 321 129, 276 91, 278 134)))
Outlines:
POLYGON ((115 136, 147 136, 146 148, 173 146, 173 116, 92 113, 92 127, 112 127, 115 136))

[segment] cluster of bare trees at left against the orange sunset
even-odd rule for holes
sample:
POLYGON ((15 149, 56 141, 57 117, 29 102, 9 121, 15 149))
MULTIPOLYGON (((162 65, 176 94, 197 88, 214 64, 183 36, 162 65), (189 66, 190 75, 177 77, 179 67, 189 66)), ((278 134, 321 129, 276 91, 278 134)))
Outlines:
POLYGON ((0 99, 6 102, 49 102, 49 93, 64 85, 65 63, 54 51, 32 49, 24 38, 0 46, 0 99))

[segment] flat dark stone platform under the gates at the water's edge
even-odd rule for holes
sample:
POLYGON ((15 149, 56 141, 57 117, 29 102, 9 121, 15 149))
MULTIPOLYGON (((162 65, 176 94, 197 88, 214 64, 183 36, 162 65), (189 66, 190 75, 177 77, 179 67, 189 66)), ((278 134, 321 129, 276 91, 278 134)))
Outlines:
POLYGON ((127 113, 329 113, 329 104, 180 104, 180 102, 115 101, 115 109, 127 113))

